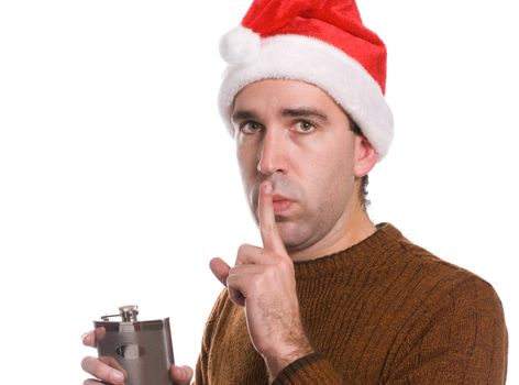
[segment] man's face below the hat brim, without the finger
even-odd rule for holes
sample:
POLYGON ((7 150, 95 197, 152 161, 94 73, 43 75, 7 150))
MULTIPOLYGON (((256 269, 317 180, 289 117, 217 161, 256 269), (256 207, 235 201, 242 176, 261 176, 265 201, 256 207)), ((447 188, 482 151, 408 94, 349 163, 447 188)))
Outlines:
POLYGON ((320 88, 261 80, 238 94, 232 121, 249 205, 257 222, 258 187, 274 187, 287 251, 308 249, 347 227, 358 205, 355 142, 344 111, 320 88))

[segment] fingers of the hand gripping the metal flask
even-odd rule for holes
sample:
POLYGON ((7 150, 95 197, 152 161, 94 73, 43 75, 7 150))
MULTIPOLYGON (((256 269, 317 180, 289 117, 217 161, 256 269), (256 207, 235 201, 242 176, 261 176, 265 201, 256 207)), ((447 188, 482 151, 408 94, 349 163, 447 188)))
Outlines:
MULTIPOLYGON (((87 346, 96 346, 97 341, 102 339, 104 333, 104 328, 90 331, 82 337, 82 343, 87 346)), ((85 372, 96 377, 96 380, 86 380, 84 385, 124 384, 124 370, 113 359, 87 356, 81 361, 81 367, 85 372)), ((189 385, 192 378, 192 370, 189 366, 172 365, 169 375, 174 385, 189 385)))

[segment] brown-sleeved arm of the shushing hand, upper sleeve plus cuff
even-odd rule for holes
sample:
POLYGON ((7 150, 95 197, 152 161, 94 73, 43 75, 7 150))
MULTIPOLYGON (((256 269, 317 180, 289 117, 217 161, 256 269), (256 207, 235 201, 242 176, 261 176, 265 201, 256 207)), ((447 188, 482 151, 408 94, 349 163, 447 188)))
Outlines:
MULTIPOLYGON (((508 334, 501 302, 494 288, 471 276, 411 319, 406 342, 388 362, 387 385, 506 383, 508 334)), ((343 385, 322 354, 312 353, 285 367, 273 385, 343 385)))

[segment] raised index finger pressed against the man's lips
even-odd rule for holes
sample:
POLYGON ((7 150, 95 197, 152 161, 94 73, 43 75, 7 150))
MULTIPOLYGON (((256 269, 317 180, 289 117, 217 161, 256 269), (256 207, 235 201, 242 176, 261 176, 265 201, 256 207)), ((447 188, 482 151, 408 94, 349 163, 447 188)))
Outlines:
POLYGON ((272 184, 268 180, 264 182, 260 186, 260 197, 257 200, 257 217, 260 232, 262 233, 263 249, 272 251, 275 254, 286 255, 287 251, 285 250, 276 226, 272 194, 272 184))

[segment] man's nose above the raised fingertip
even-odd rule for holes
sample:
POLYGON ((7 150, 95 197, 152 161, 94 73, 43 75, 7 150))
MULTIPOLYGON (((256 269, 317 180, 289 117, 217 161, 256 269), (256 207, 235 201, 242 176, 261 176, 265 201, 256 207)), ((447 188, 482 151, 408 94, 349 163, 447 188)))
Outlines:
POLYGON ((288 170, 287 143, 283 131, 267 130, 263 136, 257 170, 263 175, 288 170))

